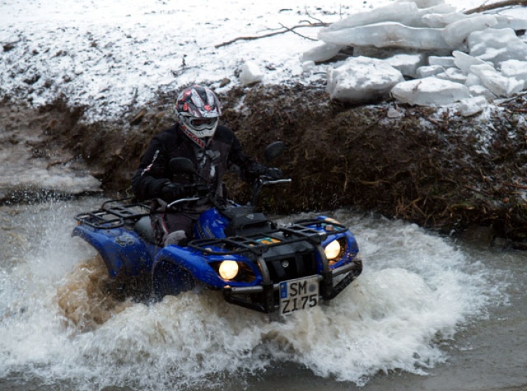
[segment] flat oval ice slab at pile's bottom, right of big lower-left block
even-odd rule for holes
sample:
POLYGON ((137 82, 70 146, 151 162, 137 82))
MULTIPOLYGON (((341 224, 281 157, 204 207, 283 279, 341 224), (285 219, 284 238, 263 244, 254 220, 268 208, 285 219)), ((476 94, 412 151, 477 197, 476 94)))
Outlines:
POLYGON ((433 77, 401 82, 393 87, 392 95, 403 103, 422 106, 449 105, 470 98, 463 84, 433 77))

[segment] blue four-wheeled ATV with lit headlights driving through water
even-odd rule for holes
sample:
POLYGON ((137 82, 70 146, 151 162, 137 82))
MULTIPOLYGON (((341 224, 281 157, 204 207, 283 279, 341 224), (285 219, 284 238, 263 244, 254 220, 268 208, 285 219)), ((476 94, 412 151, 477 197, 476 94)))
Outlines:
MULTIPOLYGON (((270 145, 267 160, 280 149, 280 142, 270 145)), ((196 175, 186 158, 173 159, 171 170, 196 175)), ((221 290, 232 304, 286 315, 332 300, 363 268, 356 239, 341 223, 318 216, 281 226, 255 210, 262 186, 288 182, 260 176, 248 205, 211 192, 172 202, 176 208, 206 196, 214 205, 199 216, 185 246, 157 246, 150 207, 132 198, 78 214, 72 235, 97 250, 111 279, 141 281, 157 299, 202 286, 221 290)))

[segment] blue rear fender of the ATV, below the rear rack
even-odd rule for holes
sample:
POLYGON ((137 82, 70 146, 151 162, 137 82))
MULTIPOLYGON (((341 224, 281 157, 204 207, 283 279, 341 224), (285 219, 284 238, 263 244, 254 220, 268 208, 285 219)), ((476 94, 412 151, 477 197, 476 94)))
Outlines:
POLYGON ((137 276, 150 272, 155 246, 146 244, 136 233, 125 228, 97 229, 79 225, 72 236, 78 236, 94 247, 106 264, 108 275, 137 276))

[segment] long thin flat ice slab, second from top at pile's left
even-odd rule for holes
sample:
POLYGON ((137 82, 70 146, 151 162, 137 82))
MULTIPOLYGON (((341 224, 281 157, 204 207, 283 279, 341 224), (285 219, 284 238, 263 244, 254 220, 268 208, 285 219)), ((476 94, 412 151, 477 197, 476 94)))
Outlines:
POLYGON ((318 38, 334 45, 408 47, 420 50, 449 48, 441 29, 407 27, 395 22, 369 24, 337 31, 321 31, 318 38))

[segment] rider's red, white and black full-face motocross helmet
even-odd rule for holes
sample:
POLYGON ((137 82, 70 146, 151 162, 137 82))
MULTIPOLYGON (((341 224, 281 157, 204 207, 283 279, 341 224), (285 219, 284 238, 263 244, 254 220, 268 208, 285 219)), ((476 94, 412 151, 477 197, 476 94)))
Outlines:
POLYGON ((195 85, 178 95, 176 115, 190 138, 211 138, 221 115, 220 101, 211 89, 195 85))

